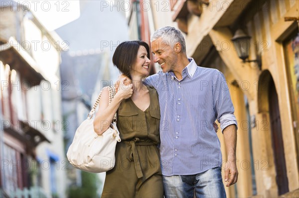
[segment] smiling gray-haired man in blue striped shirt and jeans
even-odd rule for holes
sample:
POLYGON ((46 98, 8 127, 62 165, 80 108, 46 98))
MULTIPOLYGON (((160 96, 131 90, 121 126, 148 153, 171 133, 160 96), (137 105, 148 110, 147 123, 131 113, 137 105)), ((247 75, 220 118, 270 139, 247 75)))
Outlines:
POLYGON ((237 121, 223 74, 197 66, 186 56, 183 35, 173 27, 156 30, 150 38, 154 63, 162 71, 145 84, 158 93, 160 157, 165 198, 226 197, 221 177, 217 119, 223 130, 228 161, 225 182, 237 182, 237 121))

